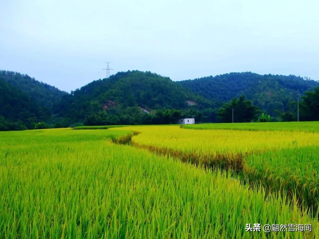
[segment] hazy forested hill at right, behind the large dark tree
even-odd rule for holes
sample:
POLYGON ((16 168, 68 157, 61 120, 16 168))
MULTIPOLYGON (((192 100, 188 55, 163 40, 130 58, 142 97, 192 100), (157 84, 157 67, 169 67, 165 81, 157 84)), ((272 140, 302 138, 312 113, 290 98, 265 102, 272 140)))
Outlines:
POLYGON ((276 110, 289 110, 290 102, 297 100, 305 91, 319 86, 319 82, 300 76, 259 75, 251 72, 208 76, 180 81, 178 84, 204 98, 219 102, 219 105, 244 94, 254 105, 272 116, 276 110))

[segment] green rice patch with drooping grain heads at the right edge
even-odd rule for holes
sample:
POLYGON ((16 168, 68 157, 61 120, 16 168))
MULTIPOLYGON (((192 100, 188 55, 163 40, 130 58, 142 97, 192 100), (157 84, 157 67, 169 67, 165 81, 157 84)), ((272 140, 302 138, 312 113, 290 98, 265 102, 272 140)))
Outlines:
POLYGON ((316 210, 319 206, 319 146, 283 148, 246 157, 244 172, 272 191, 286 191, 316 210))

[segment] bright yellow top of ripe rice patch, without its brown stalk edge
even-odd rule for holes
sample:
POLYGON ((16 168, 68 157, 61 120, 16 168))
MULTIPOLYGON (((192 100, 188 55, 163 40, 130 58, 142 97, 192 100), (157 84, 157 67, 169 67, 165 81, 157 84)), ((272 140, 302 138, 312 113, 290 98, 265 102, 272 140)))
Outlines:
MULTIPOLYGON (((319 133, 290 131, 190 130, 178 126, 131 126, 138 131, 133 141, 141 145, 173 148, 185 152, 245 153, 319 143, 319 133)), ((111 128, 111 130, 118 130, 111 128)))

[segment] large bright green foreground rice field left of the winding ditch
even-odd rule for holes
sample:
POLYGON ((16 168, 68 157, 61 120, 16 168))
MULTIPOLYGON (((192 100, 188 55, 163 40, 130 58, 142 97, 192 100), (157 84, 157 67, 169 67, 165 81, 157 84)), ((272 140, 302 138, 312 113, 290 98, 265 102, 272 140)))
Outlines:
POLYGON ((296 199, 289 205, 285 195, 266 196, 226 172, 112 143, 128 134, 124 128, 1 133, 0 238, 319 236, 318 221, 296 199), (311 223, 313 230, 245 232, 246 223, 311 223))

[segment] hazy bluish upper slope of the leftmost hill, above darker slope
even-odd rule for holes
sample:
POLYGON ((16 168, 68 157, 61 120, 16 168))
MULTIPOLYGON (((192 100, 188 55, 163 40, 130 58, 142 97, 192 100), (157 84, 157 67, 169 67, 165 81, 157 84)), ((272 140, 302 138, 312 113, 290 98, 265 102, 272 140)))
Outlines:
POLYGON ((26 93, 36 104, 50 110, 64 95, 68 94, 28 75, 13 71, 0 70, 0 81, 16 87, 19 91, 26 93))

